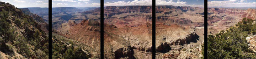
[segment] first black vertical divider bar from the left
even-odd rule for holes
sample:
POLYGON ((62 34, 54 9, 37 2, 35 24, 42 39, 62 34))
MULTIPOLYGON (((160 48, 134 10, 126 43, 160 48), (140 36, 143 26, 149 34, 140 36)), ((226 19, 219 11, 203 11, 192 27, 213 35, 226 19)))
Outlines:
POLYGON ((49 34, 49 41, 48 41, 49 42, 49 44, 48 44, 49 45, 49 47, 48 47, 48 53, 49 54, 48 54, 48 58, 52 59, 52 48, 53 48, 53 46, 52 46, 52 41, 53 41, 52 40, 52 0, 49 0, 48 4, 49 4, 48 5, 48 13, 49 13, 48 14, 48 17, 49 17, 48 18, 49 19, 49 21, 48 21, 48 23, 49 23, 48 24, 49 25, 49 28, 48 28, 48 30, 49 30, 48 31, 49 32, 48 33, 49 34))

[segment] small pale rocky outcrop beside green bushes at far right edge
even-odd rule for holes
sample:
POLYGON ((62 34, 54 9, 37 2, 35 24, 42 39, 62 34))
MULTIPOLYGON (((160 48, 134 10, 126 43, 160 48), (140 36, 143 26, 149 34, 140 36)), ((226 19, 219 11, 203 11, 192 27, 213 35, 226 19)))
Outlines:
POLYGON ((253 52, 256 53, 256 35, 251 37, 246 37, 246 42, 249 43, 250 46, 248 49, 251 49, 253 52))

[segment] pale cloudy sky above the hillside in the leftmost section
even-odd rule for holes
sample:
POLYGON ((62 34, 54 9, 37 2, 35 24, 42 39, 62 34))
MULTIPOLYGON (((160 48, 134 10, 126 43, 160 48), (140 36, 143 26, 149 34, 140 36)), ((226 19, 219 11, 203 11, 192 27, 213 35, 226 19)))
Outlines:
POLYGON ((3 2, 9 2, 15 7, 48 7, 48 0, 1 0, 3 2))

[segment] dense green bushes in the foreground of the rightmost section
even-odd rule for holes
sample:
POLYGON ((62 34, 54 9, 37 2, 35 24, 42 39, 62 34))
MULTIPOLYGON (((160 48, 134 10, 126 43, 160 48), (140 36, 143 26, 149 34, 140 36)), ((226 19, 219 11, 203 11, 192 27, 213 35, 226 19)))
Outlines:
POLYGON ((245 38, 255 34, 256 24, 244 18, 235 26, 215 35, 208 35, 208 59, 256 58, 256 53, 248 49, 245 38))

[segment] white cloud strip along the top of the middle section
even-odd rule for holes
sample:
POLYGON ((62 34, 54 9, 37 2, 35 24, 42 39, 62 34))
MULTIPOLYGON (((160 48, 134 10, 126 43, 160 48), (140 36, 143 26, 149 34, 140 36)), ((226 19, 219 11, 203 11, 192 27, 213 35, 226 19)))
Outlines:
POLYGON ((128 6, 128 5, 152 5, 152 0, 133 0, 133 1, 117 1, 107 2, 104 6, 128 6))

